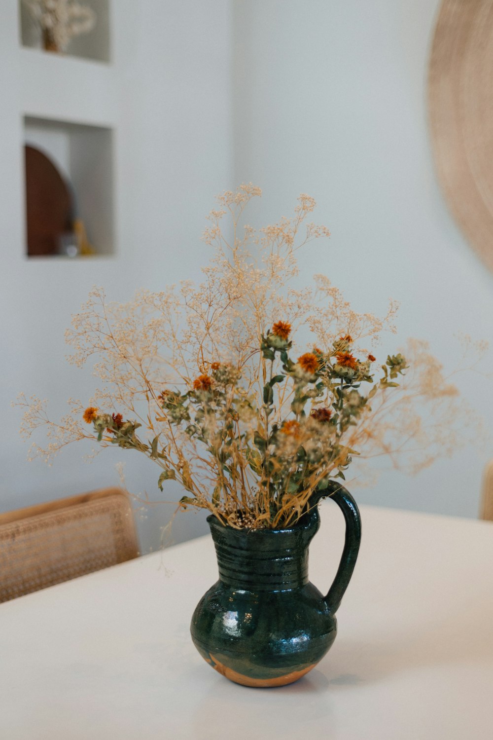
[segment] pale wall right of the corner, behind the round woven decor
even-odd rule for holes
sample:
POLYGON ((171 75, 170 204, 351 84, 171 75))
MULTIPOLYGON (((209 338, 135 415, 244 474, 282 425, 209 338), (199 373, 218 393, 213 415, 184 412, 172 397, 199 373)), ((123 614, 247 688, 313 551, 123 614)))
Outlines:
MULTIPOLYGON (((382 314, 397 298, 398 337, 384 349, 422 337, 453 368, 452 334, 493 339, 493 275, 452 221, 432 168, 426 67, 438 5, 235 3, 234 179, 262 186, 259 223, 313 195, 314 220, 332 237, 305 252, 302 279, 326 273, 359 311, 382 314)), ((489 425, 491 379, 459 385, 489 425)), ((385 473, 358 500, 477 517, 491 456, 469 448, 418 477, 385 473)))

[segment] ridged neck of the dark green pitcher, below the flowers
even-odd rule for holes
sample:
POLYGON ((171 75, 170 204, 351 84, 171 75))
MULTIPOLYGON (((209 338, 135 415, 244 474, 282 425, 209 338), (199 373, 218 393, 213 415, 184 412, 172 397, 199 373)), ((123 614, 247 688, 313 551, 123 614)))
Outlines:
POLYGON ((308 545, 319 528, 316 508, 289 529, 246 530, 207 519, 220 581, 238 591, 291 591, 308 582, 308 545))

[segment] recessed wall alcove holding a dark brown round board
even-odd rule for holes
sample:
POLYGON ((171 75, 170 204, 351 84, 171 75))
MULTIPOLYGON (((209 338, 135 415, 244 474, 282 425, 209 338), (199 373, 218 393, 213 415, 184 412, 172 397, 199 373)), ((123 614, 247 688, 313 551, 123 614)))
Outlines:
MULTIPOLYGON (((24 117, 28 257, 114 253, 112 134, 112 129, 106 127, 24 117), (60 181, 67 186, 65 189, 60 181), (43 240, 38 233, 40 229, 49 230, 47 221, 58 208, 55 195, 45 192, 45 188, 59 190, 61 200, 69 198, 73 204, 69 223, 51 227, 51 240, 43 240), (82 249, 81 243, 85 245, 82 249)), ((57 217, 53 218, 56 221, 57 217)))

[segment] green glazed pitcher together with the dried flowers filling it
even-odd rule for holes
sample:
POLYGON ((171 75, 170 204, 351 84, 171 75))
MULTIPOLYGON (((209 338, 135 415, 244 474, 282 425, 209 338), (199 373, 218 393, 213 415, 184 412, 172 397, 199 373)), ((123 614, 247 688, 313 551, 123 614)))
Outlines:
POLYGON ((208 511, 220 577, 192 638, 229 679, 272 686, 307 673, 336 636, 361 537, 342 483, 351 462, 387 455, 417 470, 455 448, 459 414, 457 388, 425 343, 376 359, 395 303, 379 318, 355 312, 323 275, 293 286, 298 249, 328 229, 308 221, 315 202, 301 195, 291 218, 256 231, 242 219, 260 194, 250 184, 218 198, 200 285, 123 304, 93 290, 67 332, 75 365, 98 359, 103 386, 89 404, 72 400, 55 423, 37 398, 20 403, 24 434, 47 431, 34 456, 50 460, 82 439, 137 450, 157 466, 161 491, 180 483, 179 509, 208 511), (307 574, 323 497, 346 523, 326 596, 307 574))

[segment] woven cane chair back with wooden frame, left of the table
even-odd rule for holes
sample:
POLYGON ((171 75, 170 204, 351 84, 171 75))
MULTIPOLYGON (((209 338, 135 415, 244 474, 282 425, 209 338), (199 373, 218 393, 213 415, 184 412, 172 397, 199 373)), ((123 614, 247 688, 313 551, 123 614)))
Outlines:
POLYGON ((137 557, 120 488, 0 514, 0 602, 137 557))

